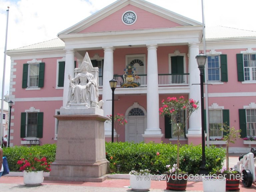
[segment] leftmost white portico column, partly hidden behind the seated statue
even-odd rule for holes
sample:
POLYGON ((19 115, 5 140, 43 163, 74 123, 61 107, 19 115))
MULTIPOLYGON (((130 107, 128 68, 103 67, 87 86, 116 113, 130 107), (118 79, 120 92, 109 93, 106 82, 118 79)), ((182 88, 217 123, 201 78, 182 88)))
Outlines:
POLYGON ((69 88, 68 74, 70 74, 71 78, 74 77, 74 62, 75 62, 75 51, 73 49, 66 50, 64 88, 63 88, 63 107, 67 106, 68 88, 69 88))

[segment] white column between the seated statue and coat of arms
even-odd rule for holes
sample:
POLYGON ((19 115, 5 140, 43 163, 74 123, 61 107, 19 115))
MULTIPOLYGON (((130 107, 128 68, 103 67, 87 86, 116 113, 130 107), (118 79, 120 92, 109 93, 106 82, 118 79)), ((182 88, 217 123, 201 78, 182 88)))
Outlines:
MULTIPOLYGON (((109 81, 113 79, 114 75, 114 61, 113 53, 114 47, 103 47, 104 48, 104 65, 103 65, 103 86, 102 86, 102 100, 104 104, 102 109, 104 111, 104 117, 112 114, 112 90, 109 86, 109 81), (109 100, 109 101, 107 101, 109 100)), ((105 136, 111 136, 112 129, 111 125, 104 123, 105 136)), ((115 133, 114 133, 115 134, 115 133)))

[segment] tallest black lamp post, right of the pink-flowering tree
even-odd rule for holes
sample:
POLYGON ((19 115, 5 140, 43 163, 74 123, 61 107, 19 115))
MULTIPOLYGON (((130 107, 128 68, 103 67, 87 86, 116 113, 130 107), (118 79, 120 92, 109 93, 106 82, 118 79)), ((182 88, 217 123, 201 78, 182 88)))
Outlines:
POLYGON ((203 83, 203 72, 204 65, 206 62, 207 56, 200 53, 196 56, 196 62, 200 70, 200 88, 201 88, 201 126, 202 126, 202 162, 200 166, 200 174, 207 174, 205 169, 205 136, 204 136, 204 83, 203 83))

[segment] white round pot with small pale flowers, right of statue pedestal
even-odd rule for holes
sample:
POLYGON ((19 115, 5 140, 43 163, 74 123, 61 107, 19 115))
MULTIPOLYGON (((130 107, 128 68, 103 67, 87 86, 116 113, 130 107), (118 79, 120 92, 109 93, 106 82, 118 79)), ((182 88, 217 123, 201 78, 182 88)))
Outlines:
POLYGON ((151 175, 148 169, 139 172, 132 170, 130 175, 130 187, 133 191, 148 191, 151 186, 151 175))

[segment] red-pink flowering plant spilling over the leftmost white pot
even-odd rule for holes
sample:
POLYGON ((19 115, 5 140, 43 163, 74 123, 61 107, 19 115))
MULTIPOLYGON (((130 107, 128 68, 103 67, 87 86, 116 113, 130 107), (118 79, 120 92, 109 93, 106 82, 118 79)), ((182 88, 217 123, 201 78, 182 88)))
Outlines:
POLYGON ((33 157, 32 154, 30 154, 28 159, 18 160, 17 164, 20 165, 19 171, 51 171, 50 162, 47 162, 46 157, 33 157))

